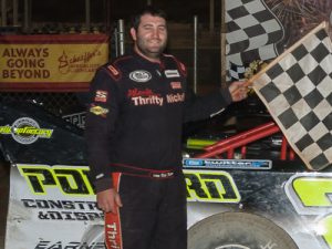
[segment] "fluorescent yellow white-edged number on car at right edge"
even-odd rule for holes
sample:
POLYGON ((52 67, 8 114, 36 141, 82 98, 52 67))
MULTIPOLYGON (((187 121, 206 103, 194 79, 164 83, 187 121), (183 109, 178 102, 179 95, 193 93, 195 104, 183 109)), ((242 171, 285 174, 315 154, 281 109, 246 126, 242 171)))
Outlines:
POLYGON ((295 174, 284 185, 298 214, 317 216, 312 229, 332 249, 332 174, 295 174))

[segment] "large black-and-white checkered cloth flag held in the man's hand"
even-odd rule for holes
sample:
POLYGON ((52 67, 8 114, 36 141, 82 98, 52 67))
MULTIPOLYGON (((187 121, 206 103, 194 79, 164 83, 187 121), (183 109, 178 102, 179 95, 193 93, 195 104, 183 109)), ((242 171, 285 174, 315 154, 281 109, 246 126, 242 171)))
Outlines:
POLYGON ((332 44, 325 25, 250 79, 289 144, 313 170, 332 165, 332 44))

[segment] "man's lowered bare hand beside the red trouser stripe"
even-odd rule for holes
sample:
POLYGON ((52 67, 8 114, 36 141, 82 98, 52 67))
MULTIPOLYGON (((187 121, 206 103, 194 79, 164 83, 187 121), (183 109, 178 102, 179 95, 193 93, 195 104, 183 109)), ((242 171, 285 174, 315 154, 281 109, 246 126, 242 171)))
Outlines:
POLYGON ((122 207, 118 193, 114 188, 106 189, 96 194, 97 205, 104 212, 116 214, 117 208, 122 207))

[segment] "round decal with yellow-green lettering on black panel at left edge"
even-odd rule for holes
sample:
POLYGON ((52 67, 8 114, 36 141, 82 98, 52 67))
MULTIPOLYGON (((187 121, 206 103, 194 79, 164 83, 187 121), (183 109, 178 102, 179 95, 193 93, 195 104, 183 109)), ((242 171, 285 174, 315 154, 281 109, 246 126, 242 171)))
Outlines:
POLYGON ((53 129, 40 128, 39 124, 30 117, 21 117, 11 126, 0 126, 0 134, 11 135, 20 144, 33 144, 38 138, 51 138, 53 129))

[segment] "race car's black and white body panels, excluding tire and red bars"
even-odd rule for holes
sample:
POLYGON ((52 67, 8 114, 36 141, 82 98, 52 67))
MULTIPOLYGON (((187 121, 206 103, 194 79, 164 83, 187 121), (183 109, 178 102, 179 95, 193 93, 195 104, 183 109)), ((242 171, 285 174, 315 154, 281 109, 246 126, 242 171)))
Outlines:
MULTIPOLYGON (((11 165, 6 249, 103 248, 82 129, 40 106, 10 104, 0 107, 0 135, 11 165), (34 132, 24 129, 29 124, 38 124, 34 132)), ((186 160, 189 230, 215 214, 250 212, 273 221, 300 249, 332 248, 329 168, 314 173, 300 160, 269 158, 186 160)))

